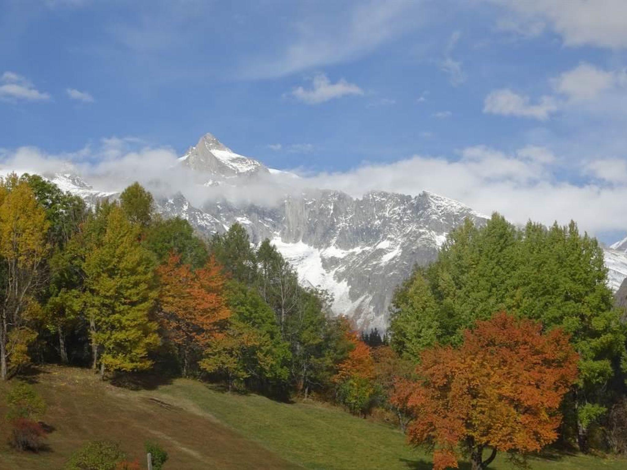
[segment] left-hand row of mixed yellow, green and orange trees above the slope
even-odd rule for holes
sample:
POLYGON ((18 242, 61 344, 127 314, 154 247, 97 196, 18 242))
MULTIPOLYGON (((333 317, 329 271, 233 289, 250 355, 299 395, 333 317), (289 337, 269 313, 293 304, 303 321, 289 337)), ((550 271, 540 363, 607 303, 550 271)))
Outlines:
POLYGON ((37 175, 1 180, 0 283, 3 380, 61 362, 329 397, 355 344, 268 240, 239 224, 204 239, 137 183, 90 208, 37 175))

